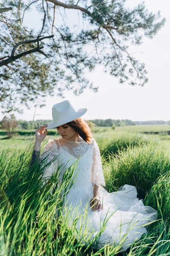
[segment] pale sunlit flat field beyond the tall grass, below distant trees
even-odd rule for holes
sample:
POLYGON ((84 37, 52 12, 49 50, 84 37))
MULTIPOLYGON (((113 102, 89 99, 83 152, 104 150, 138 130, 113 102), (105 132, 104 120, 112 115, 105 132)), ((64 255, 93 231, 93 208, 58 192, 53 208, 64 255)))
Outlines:
MULTIPOLYGON (((133 140, 136 137, 143 137, 144 140, 152 138, 157 141, 159 145, 164 145, 170 148, 170 125, 129 125, 116 127, 113 130, 111 127, 94 127, 94 137, 100 144, 100 149, 104 147, 105 143, 113 140, 116 142, 118 138, 124 140, 125 144, 127 140, 133 140), (148 134, 149 133, 149 134, 148 134), (159 133, 159 134, 154 134, 159 133)), ((16 131, 16 136, 11 139, 7 139, 5 131, 0 131, 0 149, 3 148, 25 148, 27 145, 31 145, 35 141, 34 130, 16 131), (21 135, 20 135, 21 134, 21 135)), ((53 140, 58 137, 56 129, 51 129, 47 133, 43 144, 48 140, 53 140)), ((108 144, 107 144, 108 145, 108 144)))

